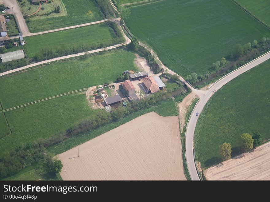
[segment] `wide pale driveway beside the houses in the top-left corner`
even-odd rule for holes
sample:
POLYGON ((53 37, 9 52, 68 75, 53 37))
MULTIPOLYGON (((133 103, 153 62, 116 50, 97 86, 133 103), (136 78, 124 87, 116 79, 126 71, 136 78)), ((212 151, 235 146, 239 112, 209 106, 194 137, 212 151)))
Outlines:
POLYGON ((6 10, 6 14, 12 14, 12 7, 13 7, 13 12, 14 12, 20 32, 23 35, 29 34, 30 32, 23 18, 23 15, 21 13, 20 6, 18 5, 17 0, 0 0, 0 4, 4 4, 5 6, 9 5, 10 9, 6 10))

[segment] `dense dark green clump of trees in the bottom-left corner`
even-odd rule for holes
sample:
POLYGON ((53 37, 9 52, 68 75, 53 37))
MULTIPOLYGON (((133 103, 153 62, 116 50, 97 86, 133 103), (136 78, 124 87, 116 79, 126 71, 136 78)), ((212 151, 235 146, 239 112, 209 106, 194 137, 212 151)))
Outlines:
POLYGON ((0 178, 13 175, 21 169, 45 159, 50 172, 60 172, 63 165, 60 160, 47 153, 45 147, 39 143, 26 143, 11 152, 3 153, 0 158, 0 178))

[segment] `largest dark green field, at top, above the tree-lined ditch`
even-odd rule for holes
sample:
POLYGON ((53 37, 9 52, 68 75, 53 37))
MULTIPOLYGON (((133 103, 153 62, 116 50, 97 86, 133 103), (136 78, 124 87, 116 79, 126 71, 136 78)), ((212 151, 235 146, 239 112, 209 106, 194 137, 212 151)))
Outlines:
POLYGON ((129 6, 131 32, 168 68, 198 75, 232 53, 235 44, 270 36, 270 30, 231 0, 171 0, 129 6))

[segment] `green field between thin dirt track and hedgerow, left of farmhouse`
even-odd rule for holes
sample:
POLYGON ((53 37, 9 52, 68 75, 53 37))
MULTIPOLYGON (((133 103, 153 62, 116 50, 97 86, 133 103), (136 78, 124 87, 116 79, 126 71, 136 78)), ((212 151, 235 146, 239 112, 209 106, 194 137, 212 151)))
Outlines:
POLYGON ((89 107, 85 93, 74 93, 8 111, 6 117, 12 134, 0 139, 0 153, 60 133, 98 111, 89 107))

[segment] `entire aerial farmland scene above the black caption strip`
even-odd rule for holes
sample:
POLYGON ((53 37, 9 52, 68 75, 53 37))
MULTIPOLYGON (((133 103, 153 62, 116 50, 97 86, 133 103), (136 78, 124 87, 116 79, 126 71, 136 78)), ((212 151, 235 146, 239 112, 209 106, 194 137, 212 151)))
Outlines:
POLYGON ((269 8, 1 0, 0 180, 269 180, 269 8))

